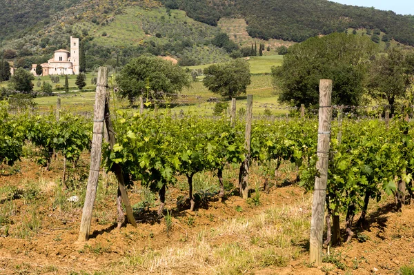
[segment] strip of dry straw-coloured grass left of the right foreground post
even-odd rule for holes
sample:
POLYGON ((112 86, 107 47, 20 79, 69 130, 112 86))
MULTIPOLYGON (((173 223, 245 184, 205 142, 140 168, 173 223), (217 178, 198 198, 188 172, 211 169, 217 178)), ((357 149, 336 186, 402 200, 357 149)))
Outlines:
POLYGON ((273 206, 250 218, 233 218, 199 232, 183 245, 132 251, 121 259, 131 271, 151 274, 241 274, 264 267, 284 267, 306 245, 310 200, 273 206))

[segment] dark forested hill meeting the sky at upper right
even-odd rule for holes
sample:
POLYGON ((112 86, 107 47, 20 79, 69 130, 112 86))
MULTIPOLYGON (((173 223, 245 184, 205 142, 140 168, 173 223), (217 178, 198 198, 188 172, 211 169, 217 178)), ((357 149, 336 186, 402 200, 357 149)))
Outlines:
POLYGON ((380 29, 414 45, 413 17, 326 0, 161 0, 169 8, 215 26, 221 17, 243 17, 251 37, 301 42, 346 28, 380 29))

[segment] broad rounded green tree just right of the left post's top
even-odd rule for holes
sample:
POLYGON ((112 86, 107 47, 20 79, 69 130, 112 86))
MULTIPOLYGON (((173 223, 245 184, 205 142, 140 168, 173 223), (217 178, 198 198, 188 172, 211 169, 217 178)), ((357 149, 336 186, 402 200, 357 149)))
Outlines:
POLYGON ((188 74, 183 68, 170 61, 141 55, 132 59, 117 76, 119 96, 127 98, 131 105, 138 96, 163 97, 163 92, 177 94, 190 85, 188 74))

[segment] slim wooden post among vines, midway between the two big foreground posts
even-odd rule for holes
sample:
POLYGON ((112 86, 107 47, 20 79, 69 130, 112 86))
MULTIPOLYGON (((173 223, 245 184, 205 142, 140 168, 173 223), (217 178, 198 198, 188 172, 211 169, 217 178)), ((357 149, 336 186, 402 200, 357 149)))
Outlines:
POLYGON ((252 119, 253 119, 253 94, 247 95, 247 108, 246 108, 246 132, 244 135, 244 148, 246 149, 246 159, 242 163, 239 172, 239 188, 240 195, 243 198, 248 198, 248 172, 250 166, 250 136, 252 131, 252 119))

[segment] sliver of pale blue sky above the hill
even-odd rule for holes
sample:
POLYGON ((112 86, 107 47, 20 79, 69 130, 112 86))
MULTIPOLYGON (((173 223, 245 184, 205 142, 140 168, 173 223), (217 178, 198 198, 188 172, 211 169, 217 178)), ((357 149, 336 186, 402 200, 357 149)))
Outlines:
POLYGON ((397 14, 413 14, 413 0, 331 0, 353 6, 374 7, 379 10, 392 10, 397 14))

